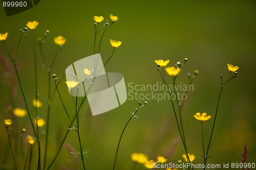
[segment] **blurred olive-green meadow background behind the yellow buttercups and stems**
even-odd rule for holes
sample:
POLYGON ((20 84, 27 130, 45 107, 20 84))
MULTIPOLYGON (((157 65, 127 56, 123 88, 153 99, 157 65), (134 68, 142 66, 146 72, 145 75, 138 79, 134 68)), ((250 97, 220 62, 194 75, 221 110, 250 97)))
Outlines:
MULTIPOLYGON (((73 62, 93 55, 94 19, 93 16, 117 15, 119 18, 105 33, 101 46, 101 57, 105 62, 112 53, 109 39, 120 40, 111 61, 105 66, 106 72, 120 72, 124 76, 127 90, 129 83, 154 85, 161 82, 156 69, 156 59, 170 60, 169 66, 188 58, 182 68, 177 84, 187 84, 187 72, 195 69, 200 75, 195 78, 194 91, 188 93, 188 100, 183 109, 184 130, 188 152, 196 155, 194 163, 202 163, 201 129, 193 117, 196 112, 207 112, 214 116, 217 99, 221 89, 220 74, 224 79, 228 75, 227 63, 238 65, 238 77, 230 81, 224 88, 212 139, 208 163, 240 162, 244 144, 248 144, 247 162, 255 162, 255 52, 256 52, 256 3, 255 1, 41 1, 34 8, 6 17, 0 7, 0 32, 8 32, 5 41, 9 52, 15 55, 20 37, 19 29, 26 27, 28 21, 37 20, 39 25, 36 37, 43 37, 50 30, 45 40, 44 52, 50 62, 57 49, 53 38, 62 35, 67 38, 52 73, 60 78, 65 69, 73 62)), ((102 21, 103 23, 105 22, 102 21)), ((103 26, 100 23, 100 26, 103 26)), ((32 41, 31 30, 28 38, 32 41)), ((97 38, 99 42, 99 37, 97 38)), ((3 46, 1 54, 6 55, 3 46)), ((20 43, 18 51, 19 74, 22 80, 29 107, 33 108, 34 99, 34 58, 33 51, 26 38, 20 43)), ((37 51, 38 58, 38 92, 39 100, 44 104, 38 114, 46 119, 47 112, 47 71, 37 51)), ((0 67, 1 74, 5 72, 0 67)), ((16 77, 15 77, 16 79, 16 77)), ((168 78, 169 84, 172 78, 168 78)), ((161 82, 162 83, 162 82, 161 82)), ((54 83, 52 83, 52 89, 54 83)), ((75 108, 65 82, 59 85, 63 102, 69 113, 74 115, 75 108)), ((134 91, 135 92, 135 91, 134 91)), ((151 91, 137 91, 151 93, 151 91)), ((7 87, 0 84, 0 165, 8 168, 11 155, 4 154, 7 147, 7 134, 4 119, 15 119, 6 109, 8 99, 7 87), (4 157, 8 160, 4 162, 4 157), (4 165, 4 163, 6 163, 4 165)), ((159 91, 159 93, 163 93, 159 91)), ((18 88, 15 106, 20 106, 22 95, 18 88), (19 103, 19 104, 18 104, 19 103)), ((117 143, 121 131, 134 111, 137 102, 145 100, 127 100, 120 107, 109 112, 92 116, 88 101, 84 103, 80 113, 82 147, 93 149, 86 158, 88 169, 111 169, 114 163, 117 143)), ((170 154, 166 163, 177 162, 184 153, 174 112, 168 100, 148 100, 148 105, 138 112, 139 119, 132 119, 127 127, 119 148, 116 169, 139 169, 134 166, 130 155, 142 152, 151 159, 159 155, 170 154), (177 147, 176 147, 177 145, 177 147)), ((22 104, 20 107, 25 108, 22 104)), ((33 112, 34 113, 34 112, 33 112)), ((20 129, 26 128, 26 134, 32 135, 28 115, 16 118, 20 129)), ((208 143, 213 118, 204 123, 205 143, 208 143)), ((56 95, 53 101, 50 120, 49 156, 47 164, 53 159, 59 143, 69 126, 69 119, 56 95)), ((13 126, 15 126, 13 124, 13 126)), ((41 128, 41 132, 46 126, 41 128)), ((45 135, 40 136, 44 146, 45 135)), ((14 139, 13 139, 14 140, 14 139)), ((52 169, 81 168, 80 158, 70 154, 70 148, 79 150, 75 131, 70 131, 52 169), (76 162, 77 159, 77 162, 76 162)), ((35 145, 36 146, 36 145, 35 145)), ((25 148, 27 145, 25 144, 25 148)), ((36 147, 35 147, 36 148, 36 147)), ((26 149, 25 149, 26 150, 26 149)), ((36 151, 36 150, 35 150, 36 151)), ((20 151, 18 151, 20 154, 20 151)), ((36 157, 36 152, 34 152, 36 157)), ((42 147, 44 155, 44 147, 42 147)), ((184 161, 184 160, 183 160, 184 161)), ((20 166, 23 160, 19 156, 20 166)), ((143 169, 143 168, 142 168, 143 169)))

